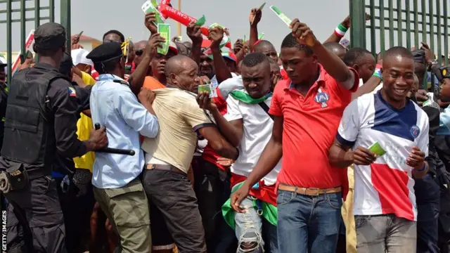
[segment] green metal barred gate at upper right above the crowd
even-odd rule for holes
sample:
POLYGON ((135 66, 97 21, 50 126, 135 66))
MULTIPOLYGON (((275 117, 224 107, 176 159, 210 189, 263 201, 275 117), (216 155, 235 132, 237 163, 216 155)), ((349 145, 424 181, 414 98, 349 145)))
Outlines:
POLYGON ((384 52, 392 46, 420 48, 426 42, 449 63, 450 0, 350 0, 352 46, 384 52), (365 21, 366 15, 371 15, 365 21))

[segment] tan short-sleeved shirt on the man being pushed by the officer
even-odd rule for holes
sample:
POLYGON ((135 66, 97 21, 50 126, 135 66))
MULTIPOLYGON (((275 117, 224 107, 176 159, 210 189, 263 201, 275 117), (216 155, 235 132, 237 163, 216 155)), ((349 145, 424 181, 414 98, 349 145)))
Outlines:
POLYGON ((197 145, 195 131, 214 124, 198 106, 194 93, 173 88, 153 92, 156 94, 153 110, 160 123, 160 132, 156 138, 145 138, 142 149, 187 173, 197 145))

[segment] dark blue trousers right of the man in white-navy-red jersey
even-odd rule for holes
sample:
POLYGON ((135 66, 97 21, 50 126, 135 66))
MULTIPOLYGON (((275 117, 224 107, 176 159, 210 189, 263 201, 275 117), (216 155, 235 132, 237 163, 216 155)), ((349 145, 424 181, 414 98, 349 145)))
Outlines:
POLYGON ((439 219, 440 190, 435 180, 426 174, 414 185, 417 202, 417 252, 439 252, 437 223, 439 219))

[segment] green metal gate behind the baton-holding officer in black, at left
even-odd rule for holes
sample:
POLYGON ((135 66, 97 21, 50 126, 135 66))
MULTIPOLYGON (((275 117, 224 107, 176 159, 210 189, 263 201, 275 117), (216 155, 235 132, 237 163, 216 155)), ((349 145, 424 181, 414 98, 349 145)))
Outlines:
MULTIPOLYGON (((20 53, 24 60, 25 52, 25 22, 34 21, 34 27, 38 27, 41 21, 55 21, 55 0, 46 0, 49 4, 42 6, 40 0, 0 0, 0 14, 6 14, 6 19, 1 20, 0 24, 6 24, 6 58, 8 60, 8 84, 11 84, 11 66, 12 66, 12 38, 16 36, 12 31, 13 22, 20 22, 20 53), (41 12, 46 12, 42 15, 41 12), (18 15, 17 15, 18 14, 18 15)), ((60 23, 65 27, 68 37, 68 50, 70 50, 70 0, 60 0, 61 19, 60 23)))

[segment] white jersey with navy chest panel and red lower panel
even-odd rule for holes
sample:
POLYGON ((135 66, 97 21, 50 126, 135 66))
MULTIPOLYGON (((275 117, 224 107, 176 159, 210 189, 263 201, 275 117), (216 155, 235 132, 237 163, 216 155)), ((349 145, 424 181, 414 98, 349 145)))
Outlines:
POLYGON ((416 103, 392 108, 381 96, 365 94, 345 108, 338 135, 340 143, 369 148, 380 144, 386 153, 370 166, 354 166, 354 215, 395 214, 416 221, 412 168, 406 158, 413 146, 428 156, 427 114, 416 103))

